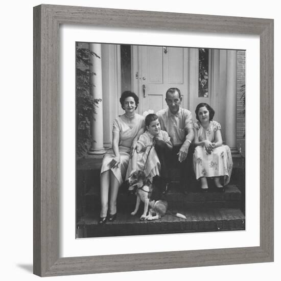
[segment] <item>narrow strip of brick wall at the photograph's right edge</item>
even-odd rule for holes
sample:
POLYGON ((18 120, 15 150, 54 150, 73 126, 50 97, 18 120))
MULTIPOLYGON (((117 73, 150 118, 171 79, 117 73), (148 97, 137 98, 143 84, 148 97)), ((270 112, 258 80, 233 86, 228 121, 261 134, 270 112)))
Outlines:
POLYGON ((241 100, 241 85, 245 85, 245 51, 237 52, 237 148, 245 156, 245 114, 241 100))

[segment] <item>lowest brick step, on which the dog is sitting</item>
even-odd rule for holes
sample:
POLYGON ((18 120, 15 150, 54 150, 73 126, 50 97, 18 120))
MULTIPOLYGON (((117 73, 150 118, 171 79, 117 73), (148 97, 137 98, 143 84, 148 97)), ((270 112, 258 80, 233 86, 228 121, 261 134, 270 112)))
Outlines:
MULTIPOLYGON (((141 209, 140 209, 141 210, 141 209)), ((77 238, 152 235, 205 231, 245 230, 245 216, 233 208, 183 210, 170 208, 169 213, 159 220, 140 221, 142 212, 131 216, 130 212, 119 212, 115 221, 98 225, 99 212, 90 212, 77 223, 77 238), (180 219, 172 214, 186 216, 180 219), (172 214, 171 214, 172 213, 172 214)))

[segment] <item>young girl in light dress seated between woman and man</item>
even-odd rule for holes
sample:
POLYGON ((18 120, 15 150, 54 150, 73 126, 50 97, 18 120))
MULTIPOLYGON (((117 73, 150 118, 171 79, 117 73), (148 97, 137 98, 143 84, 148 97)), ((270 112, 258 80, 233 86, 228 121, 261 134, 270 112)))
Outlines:
POLYGON ((147 177, 160 175, 160 161, 153 144, 158 142, 166 145, 168 149, 172 149, 170 137, 166 131, 161 130, 156 114, 148 114, 145 124, 146 131, 137 140, 136 149, 133 151, 128 165, 126 178, 138 170, 144 171, 147 177))

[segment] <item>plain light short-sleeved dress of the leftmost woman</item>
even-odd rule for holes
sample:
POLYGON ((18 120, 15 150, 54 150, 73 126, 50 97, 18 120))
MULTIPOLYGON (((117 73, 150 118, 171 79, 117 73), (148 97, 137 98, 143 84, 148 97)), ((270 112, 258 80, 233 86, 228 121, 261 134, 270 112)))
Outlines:
POLYGON ((145 126, 144 117, 139 114, 135 114, 135 118, 137 119, 136 126, 130 128, 126 123, 126 120, 121 116, 114 119, 113 122, 113 132, 119 133, 119 153, 120 153, 120 165, 119 167, 110 168, 110 162, 115 157, 112 148, 109 148, 106 154, 103 157, 101 174, 105 171, 111 170, 118 179, 120 185, 123 183, 125 179, 128 162, 131 153, 131 146, 133 143, 133 139, 136 137, 138 131, 145 126))

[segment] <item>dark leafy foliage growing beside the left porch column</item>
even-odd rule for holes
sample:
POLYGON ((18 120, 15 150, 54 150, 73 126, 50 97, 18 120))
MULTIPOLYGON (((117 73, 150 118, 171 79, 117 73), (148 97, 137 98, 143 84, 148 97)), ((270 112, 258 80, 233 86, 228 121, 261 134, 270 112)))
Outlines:
POLYGON ((76 155, 82 156, 91 146, 90 122, 95 107, 101 99, 93 99, 91 76, 96 75, 90 71, 92 65, 90 56, 100 58, 87 48, 81 48, 76 43, 76 155))

